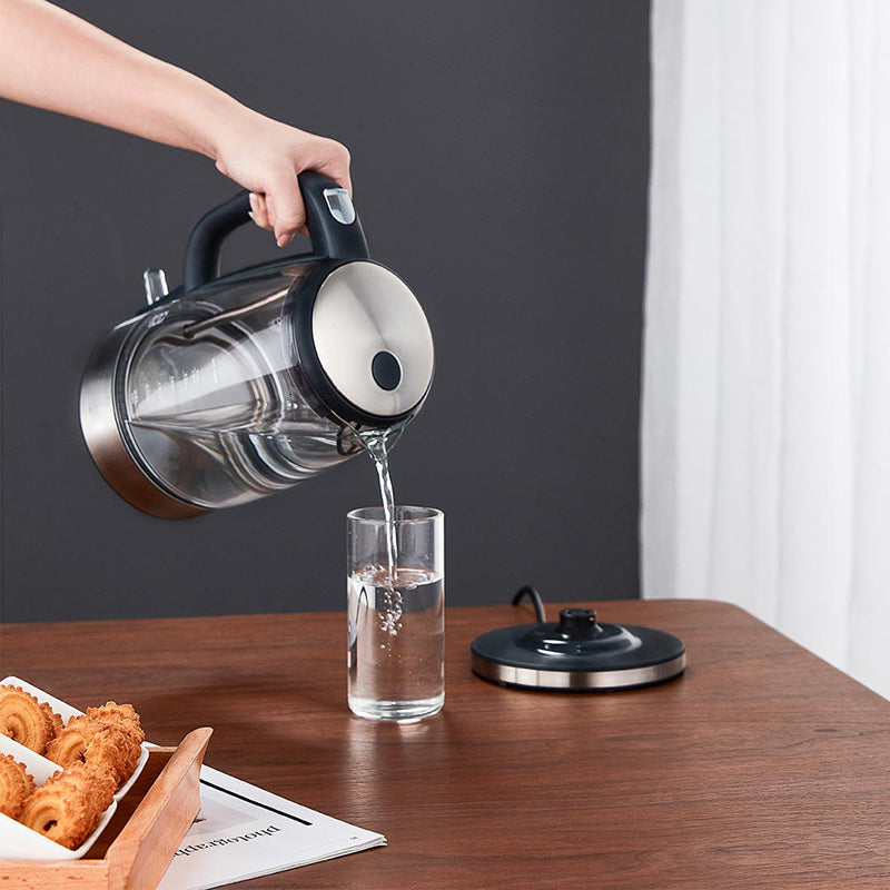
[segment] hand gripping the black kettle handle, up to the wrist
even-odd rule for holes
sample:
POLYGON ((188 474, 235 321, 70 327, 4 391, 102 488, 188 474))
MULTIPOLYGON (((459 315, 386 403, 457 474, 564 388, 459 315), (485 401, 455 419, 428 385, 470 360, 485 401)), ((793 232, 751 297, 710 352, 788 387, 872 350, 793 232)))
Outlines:
POLYGON ((217 169, 250 191, 250 216, 275 234, 278 247, 296 233, 306 235, 306 210, 297 176, 317 170, 352 195, 349 152, 334 139, 298 130, 249 109, 220 127, 215 146, 217 169))

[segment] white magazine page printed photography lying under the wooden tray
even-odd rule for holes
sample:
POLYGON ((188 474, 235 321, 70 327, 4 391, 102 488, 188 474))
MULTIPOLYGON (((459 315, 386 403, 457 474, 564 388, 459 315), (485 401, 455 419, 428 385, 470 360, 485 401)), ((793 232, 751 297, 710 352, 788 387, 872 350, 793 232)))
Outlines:
POLYGON ((158 890, 208 890, 386 843, 210 767, 200 782, 200 812, 158 890))

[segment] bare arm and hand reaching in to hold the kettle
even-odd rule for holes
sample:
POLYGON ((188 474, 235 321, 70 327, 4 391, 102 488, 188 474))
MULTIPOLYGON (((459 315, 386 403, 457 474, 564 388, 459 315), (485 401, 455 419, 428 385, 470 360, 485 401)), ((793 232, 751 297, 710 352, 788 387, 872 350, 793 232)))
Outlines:
POLYGON ((44 0, 0 0, 0 96, 206 155, 255 194, 254 217, 279 245, 305 225, 299 172, 352 190, 339 142, 253 111, 44 0))

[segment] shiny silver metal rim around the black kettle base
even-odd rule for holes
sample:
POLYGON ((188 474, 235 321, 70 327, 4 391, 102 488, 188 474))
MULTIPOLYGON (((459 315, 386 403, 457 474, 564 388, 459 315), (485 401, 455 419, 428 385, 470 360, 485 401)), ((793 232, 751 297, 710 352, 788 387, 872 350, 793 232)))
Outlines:
POLYGON ((474 652, 472 668, 476 676, 504 686, 554 692, 595 692, 663 683, 683 673, 686 668, 686 653, 645 668, 626 668, 617 671, 540 671, 534 668, 497 664, 479 657, 474 652))

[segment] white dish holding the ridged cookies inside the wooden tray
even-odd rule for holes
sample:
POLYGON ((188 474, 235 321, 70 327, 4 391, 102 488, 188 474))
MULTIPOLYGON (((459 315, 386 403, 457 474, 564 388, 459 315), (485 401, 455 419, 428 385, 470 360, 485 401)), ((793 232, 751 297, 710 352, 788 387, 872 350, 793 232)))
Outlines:
MULTIPOLYGON (((72 716, 80 716, 83 712, 78 711, 66 702, 59 701, 42 689, 38 689, 31 683, 20 680, 18 676, 7 676, 0 680, 0 685, 21 686, 26 692, 30 692, 39 702, 46 702, 49 706, 61 716, 65 724, 72 716)), ((22 744, 9 739, 6 735, 0 735, 0 754, 12 754, 16 760, 24 764, 34 782, 42 785, 53 772, 61 769, 58 763, 36 754, 30 749, 22 744)), ((139 762, 136 764, 132 775, 118 789, 115 794, 115 800, 111 805, 105 811, 101 821, 97 825, 92 834, 87 838, 83 843, 76 850, 69 850, 49 838, 39 834, 37 831, 26 828, 14 819, 0 813, 0 859, 80 859, 92 847, 96 839, 102 833, 105 827, 110 821, 111 817, 117 810, 118 801, 129 791, 132 783, 139 777, 142 768, 148 760, 148 746, 142 744, 142 752, 139 755, 139 762)))

